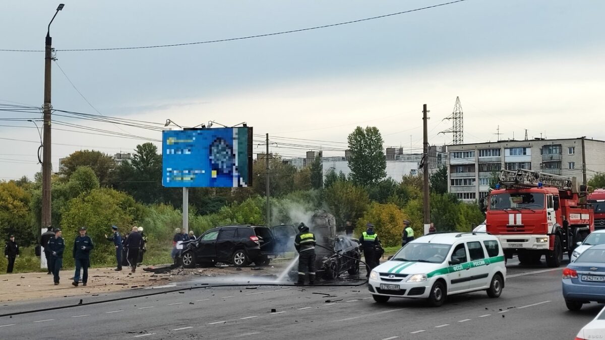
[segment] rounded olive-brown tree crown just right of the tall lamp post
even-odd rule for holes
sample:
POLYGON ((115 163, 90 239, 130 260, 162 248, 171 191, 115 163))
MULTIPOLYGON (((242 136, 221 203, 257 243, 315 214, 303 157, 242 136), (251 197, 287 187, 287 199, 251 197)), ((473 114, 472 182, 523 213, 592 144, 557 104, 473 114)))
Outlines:
POLYGON ((68 178, 80 166, 90 166, 101 183, 110 178, 110 172, 115 168, 116 162, 110 155, 96 150, 82 150, 73 152, 62 161, 59 174, 68 178))

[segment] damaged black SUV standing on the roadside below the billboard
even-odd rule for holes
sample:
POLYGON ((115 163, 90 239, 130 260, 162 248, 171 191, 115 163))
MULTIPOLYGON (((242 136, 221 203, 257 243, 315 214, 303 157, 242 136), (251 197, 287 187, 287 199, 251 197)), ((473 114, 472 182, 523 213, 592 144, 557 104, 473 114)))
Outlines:
POLYGON ((263 226, 221 226, 208 230, 195 240, 183 243, 183 267, 231 263, 245 267, 250 263, 266 266, 275 258, 275 238, 263 226))

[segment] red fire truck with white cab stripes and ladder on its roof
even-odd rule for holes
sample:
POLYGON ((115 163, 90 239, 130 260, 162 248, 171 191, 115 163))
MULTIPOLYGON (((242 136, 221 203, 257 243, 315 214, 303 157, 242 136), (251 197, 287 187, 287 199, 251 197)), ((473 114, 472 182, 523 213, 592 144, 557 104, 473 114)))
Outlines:
POLYGON ((577 242, 594 231, 593 211, 580 204, 586 186, 575 178, 525 169, 502 170, 497 188, 486 199, 487 231, 502 243, 506 258, 549 267, 561 264, 577 242))

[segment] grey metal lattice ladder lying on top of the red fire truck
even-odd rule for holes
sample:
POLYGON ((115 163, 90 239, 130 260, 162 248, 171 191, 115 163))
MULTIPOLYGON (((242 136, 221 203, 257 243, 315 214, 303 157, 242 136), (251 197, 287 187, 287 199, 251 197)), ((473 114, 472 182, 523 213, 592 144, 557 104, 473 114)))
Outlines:
POLYGON ((571 190, 572 179, 569 177, 547 174, 526 169, 500 171, 500 185, 506 187, 537 188, 540 185, 571 190))

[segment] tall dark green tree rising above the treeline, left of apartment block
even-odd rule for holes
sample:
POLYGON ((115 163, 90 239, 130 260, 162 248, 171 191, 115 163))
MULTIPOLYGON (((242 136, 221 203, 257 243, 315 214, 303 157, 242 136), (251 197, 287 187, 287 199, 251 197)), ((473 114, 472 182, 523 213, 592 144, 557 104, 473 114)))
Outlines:
POLYGON ((351 157, 348 167, 353 182, 362 185, 374 185, 387 175, 387 160, 382 152, 382 136, 375 126, 365 129, 358 126, 348 135, 348 148, 351 157))

